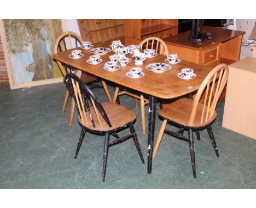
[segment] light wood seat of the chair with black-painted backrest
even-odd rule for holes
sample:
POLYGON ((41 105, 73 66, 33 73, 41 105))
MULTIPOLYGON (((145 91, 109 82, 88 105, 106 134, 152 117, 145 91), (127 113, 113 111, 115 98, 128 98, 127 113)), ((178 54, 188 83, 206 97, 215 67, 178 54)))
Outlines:
MULTIPOLYGON (((115 104, 113 102, 102 102, 101 105, 104 108, 106 114, 108 115, 108 118, 112 127, 109 127, 108 124, 104 122, 102 117, 100 117, 100 121, 101 121, 101 125, 100 125, 98 119, 96 119, 97 115, 93 107, 91 107, 90 109, 91 109, 92 117, 95 118, 94 119, 95 127, 92 126, 92 123, 90 121, 88 122, 88 125, 86 125, 86 123, 83 122, 82 119, 78 116, 79 123, 85 126, 86 128, 94 131, 111 131, 119 128, 120 126, 129 124, 132 121, 135 121, 136 119, 136 114, 124 106, 115 104)), ((89 113, 86 112, 85 114, 86 114, 86 117, 89 118, 89 113)))

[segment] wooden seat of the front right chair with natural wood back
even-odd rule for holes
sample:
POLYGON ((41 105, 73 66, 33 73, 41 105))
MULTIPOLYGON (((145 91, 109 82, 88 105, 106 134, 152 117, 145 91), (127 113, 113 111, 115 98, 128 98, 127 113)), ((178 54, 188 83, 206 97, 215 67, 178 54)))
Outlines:
POLYGON ((189 124, 193 103, 193 100, 184 97, 170 104, 163 105, 164 107, 159 111, 159 115, 164 119, 174 121, 175 123, 182 124, 186 127, 202 127, 209 123, 212 123, 212 121, 216 119, 217 113, 216 111, 214 111, 210 119, 208 119, 207 121, 203 120, 203 122, 201 123, 203 104, 199 103, 195 116, 195 121, 193 124, 189 124))

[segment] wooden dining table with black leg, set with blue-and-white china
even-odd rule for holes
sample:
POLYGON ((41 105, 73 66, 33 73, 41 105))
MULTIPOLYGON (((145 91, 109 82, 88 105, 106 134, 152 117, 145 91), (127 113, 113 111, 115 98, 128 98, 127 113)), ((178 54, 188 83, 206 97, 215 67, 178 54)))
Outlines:
MULTIPOLYGON (((102 42, 100 44, 95 44, 94 47, 108 47, 109 42, 102 42)), ((154 149, 154 133, 155 133, 155 118, 156 118, 156 100, 157 99, 174 99, 199 89, 200 84, 206 77, 211 68, 208 66, 198 65, 182 60, 181 63, 176 65, 171 65, 172 69, 156 73, 146 69, 146 66, 150 63, 164 63, 166 56, 158 54, 154 58, 147 58, 143 65, 135 65, 135 62, 131 60, 126 66, 121 66, 121 68, 114 72, 109 72, 103 70, 104 64, 109 61, 109 56, 113 52, 109 52, 101 56, 103 62, 97 65, 91 65, 86 63, 89 56, 92 55, 90 50, 83 50, 82 48, 77 48, 82 50, 84 54, 83 58, 74 60, 69 58, 72 50, 63 51, 54 54, 53 58, 56 60, 58 65, 61 63, 70 65, 75 69, 75 74, 80 77, 82 71, 88 72, 89 74, 100 77, 102 81, 109 81, 123 88, 129 88, 131 90, 138 91, 140 93, 149 96, 149 106, 148 106, 148 174, 152 172, 152 155, 154 149), (129 78, 125 74, 132 67, 140 67, 144 72, 144 76, 141 78, 129 78), (177 74, 181 72, 183 68, 190 68, 194 70, 196 77, 193 79, 181 79, 177 77, 177 74)), ((74 50, 74 49, 73 49, 74 50)), ((132 57, 132 54, 126 55, 127 57, 132 57)), ((106 87, 106 86, 105 86, 106 87)), ((71 105, 71 117, 73 117, 75 103, 72 100, 71 105), (72 112, 73 111, 73 112, 72 112)))

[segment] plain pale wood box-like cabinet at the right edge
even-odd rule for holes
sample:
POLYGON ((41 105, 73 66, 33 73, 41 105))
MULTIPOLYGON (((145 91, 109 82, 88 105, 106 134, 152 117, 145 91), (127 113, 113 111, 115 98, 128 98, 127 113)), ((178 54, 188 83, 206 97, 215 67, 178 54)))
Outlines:
POLYGON ((229 66, 222 126, 256 139, 256 58, 229 66))

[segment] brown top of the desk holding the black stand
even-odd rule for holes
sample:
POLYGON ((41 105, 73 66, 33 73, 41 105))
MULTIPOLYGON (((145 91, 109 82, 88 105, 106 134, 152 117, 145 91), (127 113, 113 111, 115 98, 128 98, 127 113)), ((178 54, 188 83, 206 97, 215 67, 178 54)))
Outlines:
POLYGON ((207 40, 205 38, 205 40, 203 40, 202 42, 190 42, 189 35, 191 34, 191 30, 189 30, 187 32, 173 35, 163 40, 166 44, 183 46, 185 48, 191 48, 193 50, 203 50, 207 47, 220 44, 224 41, 235 38, 236 36, 245 34, 245 32, 242 31, 210 26, 203 26, 201 29, 201 33, 212 33, 213 39, 207 40))

